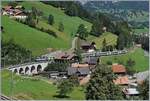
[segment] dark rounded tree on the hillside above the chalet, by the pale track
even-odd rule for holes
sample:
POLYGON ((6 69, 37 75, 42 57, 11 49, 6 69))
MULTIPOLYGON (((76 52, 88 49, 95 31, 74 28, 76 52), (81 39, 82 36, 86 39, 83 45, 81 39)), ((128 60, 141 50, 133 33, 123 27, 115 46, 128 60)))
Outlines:
POLYGON ((88 37, 88 32, 83 24, 80 24, 77 30, 77 34, 80 38, 85 39, 88 37))

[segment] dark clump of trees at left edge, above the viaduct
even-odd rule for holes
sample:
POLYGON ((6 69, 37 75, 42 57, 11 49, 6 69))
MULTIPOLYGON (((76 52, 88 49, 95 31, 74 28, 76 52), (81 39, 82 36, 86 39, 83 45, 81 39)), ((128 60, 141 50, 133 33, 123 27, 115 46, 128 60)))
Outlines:
POLYGON ((4 42, 2 40, 2 66, 4 65, 15 65, 30 61, 32 52, 26 48, 15 44, 13 40, 4 42))

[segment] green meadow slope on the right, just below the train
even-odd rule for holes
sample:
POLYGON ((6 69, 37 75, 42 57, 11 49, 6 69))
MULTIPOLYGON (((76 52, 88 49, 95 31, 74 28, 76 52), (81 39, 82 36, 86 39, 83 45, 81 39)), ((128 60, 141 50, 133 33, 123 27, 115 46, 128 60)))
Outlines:
POLYGON ((127 60, 131 58, 135 61, 135 65, 133 66, 133 69, 137 72, 139 71, 145 71, 149 69, 149 57, 144 56, 144 50, 141 48, 137 48, 134 51, 131 51, 124 55, 118 55, 118 56, 105 56, 101 57, 102 63, 107 63, 107 61, 112 61, 112 63, 118 63, 121 62, 124 65, 126 65, 127 60))

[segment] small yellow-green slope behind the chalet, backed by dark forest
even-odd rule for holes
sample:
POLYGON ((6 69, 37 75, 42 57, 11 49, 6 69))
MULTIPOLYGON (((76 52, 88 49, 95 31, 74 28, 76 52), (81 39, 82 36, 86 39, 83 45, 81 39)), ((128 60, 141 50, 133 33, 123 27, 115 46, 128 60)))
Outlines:
POLYGON ((106 40, 107 45, 116 45, 117 36, 112 34, 111 32, 105 32, 100 37, 89 36, 89 41, 94 41, 96 43, 97 48, 102 48, 103 40, 106 40))

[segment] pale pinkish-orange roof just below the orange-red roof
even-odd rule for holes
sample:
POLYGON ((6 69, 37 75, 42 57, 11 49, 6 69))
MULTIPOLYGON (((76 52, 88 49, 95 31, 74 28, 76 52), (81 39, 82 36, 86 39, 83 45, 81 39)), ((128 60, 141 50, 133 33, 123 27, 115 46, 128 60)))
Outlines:
POLYGON ((113 80, 115 84, 124 85, 129 83, 129 79, 127 76, 118 77, 116 80, 113 80))

